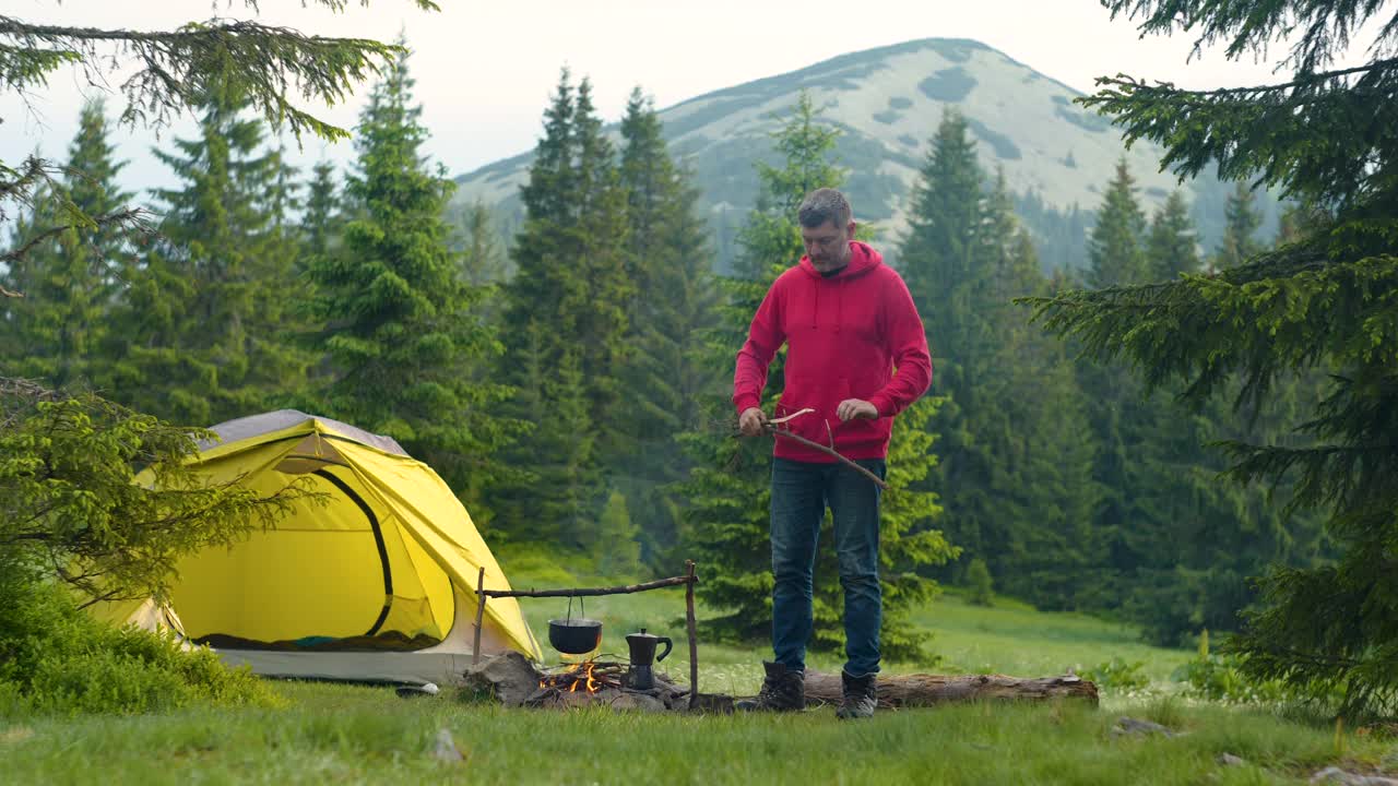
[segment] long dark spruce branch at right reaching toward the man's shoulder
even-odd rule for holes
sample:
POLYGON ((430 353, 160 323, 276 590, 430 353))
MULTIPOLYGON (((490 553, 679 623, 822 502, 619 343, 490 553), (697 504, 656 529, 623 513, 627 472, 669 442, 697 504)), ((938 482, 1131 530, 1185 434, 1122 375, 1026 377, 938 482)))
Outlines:
POLYGON ((1083 357, 1124 358, 1151 387, 1184 380, 1187 400, 1208 397, 1237 372, 1244 385, 1236 404, 1255 408, 1276 373, 1320 358, 1348 361, 1352 347, 1324 337, 1381 331, 1390 322, 1398 257, 1331 259, 1328 250, 1293 245, 1218 274, 1015 302, 1035 306, 1047 331, 1082 341, 1083 357))

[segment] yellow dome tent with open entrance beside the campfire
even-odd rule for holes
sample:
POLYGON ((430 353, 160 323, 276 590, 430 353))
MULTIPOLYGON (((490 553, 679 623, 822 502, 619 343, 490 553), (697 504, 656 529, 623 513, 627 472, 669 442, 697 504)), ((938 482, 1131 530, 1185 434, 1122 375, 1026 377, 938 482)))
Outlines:
MULTIPOLYGON (((275 529, 185 558, 171 603, 109 604, 117 622, 171 627, 229 663, 282 677, 450 683, 471 660, 475 589, 507 589, 452 490, 397 442, 280 410, 212 428, 211 481, 320 492, 275 529)), ((514 599, 487 604, 482 653, 540 657, 514 599)))

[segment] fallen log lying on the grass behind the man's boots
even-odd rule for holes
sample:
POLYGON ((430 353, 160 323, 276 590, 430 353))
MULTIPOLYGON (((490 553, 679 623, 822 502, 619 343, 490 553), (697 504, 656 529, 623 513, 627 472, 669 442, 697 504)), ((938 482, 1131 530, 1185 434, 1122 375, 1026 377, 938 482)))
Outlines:
MULTIPOLYGON (((877 687, 881 708, 1046 699, 1079 699, 1097 706, 1097 685, 1072 674, 1033 680, 1004 674, 893 674, 879 677, 877 687)), ((839 703, 840 692, 839 674, 805 673, 807 701, 839 703)))

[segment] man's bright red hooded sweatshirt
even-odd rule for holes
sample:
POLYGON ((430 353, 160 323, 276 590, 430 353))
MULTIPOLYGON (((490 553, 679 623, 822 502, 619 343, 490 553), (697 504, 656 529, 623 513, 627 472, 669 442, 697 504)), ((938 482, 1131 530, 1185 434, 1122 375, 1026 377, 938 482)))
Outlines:
MULTIPOLYGON (((733 403, 740 414, 759 406, 768 365, 784 343, 786 390, 776 417, 811 407, 814 413, 786 425, 822 445, 833 435, 835 449, 850 459, 882 459, 893 415, 931 385, 932 358, 903 278, 870 246, 851 242, 850 250, 850 264, 836 276, 822 277, 809 257, 801 257, 772 284, 738 351, 733 403), (840 422, 835 410, 846 399, 874 404, 878 420, 840 422)), ((835 460, 781 438, 774 455, 835 460)))

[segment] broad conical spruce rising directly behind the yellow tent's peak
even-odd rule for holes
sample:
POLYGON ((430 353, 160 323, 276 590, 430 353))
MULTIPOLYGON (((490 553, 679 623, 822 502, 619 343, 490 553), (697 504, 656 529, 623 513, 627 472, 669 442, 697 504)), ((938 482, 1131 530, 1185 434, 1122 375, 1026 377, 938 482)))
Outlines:
POLYGON ((285 165, 231 83, 211 85, 200 133, 155 155, 180 185, 158 189, 159 238, 129 266, 113 316, 116 400, 210 425, 275 408, 310 357, 287 340, 294 260, 273 210, 285 165))

